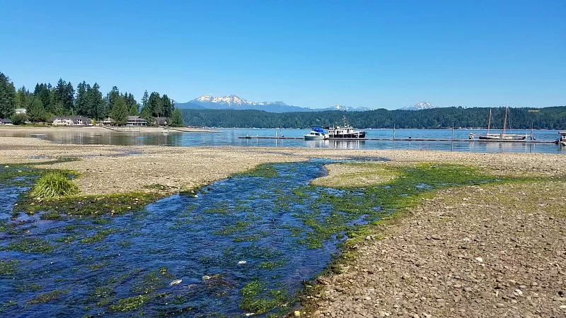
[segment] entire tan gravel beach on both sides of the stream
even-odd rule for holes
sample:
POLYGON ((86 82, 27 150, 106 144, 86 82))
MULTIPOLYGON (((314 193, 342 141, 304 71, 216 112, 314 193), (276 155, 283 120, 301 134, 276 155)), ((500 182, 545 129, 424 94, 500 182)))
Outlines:
MULTIPOLYGON (((383 165, 458 163, 493 175, 566 175, 564 155, 81 146, 0 138, 2 164, 69 157, 80 160, 41 167, 78 171, 82 194, 150 192, 154 184, 175 193, 260 163, 309 158, 386 158, 383 165)), ((329 166, 329 178, 350 172, 329 166)), ((321 289, 301 316, 566 317, 565 186, 557 178, 442 190, 403 218, 376 226, 357 247, 353 264, 318 279, 321 289)))

